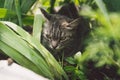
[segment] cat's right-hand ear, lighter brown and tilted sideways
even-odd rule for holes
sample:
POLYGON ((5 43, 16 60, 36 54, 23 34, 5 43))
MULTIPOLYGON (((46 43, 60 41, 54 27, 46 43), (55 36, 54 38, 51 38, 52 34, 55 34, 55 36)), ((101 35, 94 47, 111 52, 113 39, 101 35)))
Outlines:
POLYGON ((66 28, 67 29, 75 29, 78 27, 80 22, 81 22, 81 18, 77 18, 77 19, 71 21, 69 24, 67 24, 66 28))

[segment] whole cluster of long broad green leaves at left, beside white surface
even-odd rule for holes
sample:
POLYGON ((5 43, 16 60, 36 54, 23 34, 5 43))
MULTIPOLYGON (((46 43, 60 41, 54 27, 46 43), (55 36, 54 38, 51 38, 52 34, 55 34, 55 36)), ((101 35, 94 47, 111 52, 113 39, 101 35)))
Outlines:
POLYGON ((10 22, 1 22, 0 43, 0 49, 22 66, 50 79, 62 79, 62 76, 67 79, 65 72, 39 43, 39 39, 32 37, 19 26, 10 22))

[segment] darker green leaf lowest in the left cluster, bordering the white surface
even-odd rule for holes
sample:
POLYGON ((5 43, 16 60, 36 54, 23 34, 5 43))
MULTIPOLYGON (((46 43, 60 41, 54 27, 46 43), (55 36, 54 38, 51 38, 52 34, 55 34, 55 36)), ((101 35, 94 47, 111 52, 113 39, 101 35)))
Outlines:
POLYGON ((8 56, 10 56, 12 59, 14 59, 17 63, 21 64, 24 67, 27 67, 28 69, 33 70, 34 72, 41 74, 39 72, 39 68, 35 66, 34 63, 32 63, 30 60, 25 58, 23 55, 21 55, 18 51, 13 49, 12 47, 8 46, 4 42, 0 40, 0 49, 5 52, 8 56))

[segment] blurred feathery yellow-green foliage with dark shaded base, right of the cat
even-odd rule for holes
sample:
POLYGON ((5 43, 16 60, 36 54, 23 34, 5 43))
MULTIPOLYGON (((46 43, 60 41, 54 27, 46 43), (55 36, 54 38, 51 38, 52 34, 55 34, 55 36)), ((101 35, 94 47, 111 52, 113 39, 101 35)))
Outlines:
POLYGON ((81 78, 77 76, 75 79, 85 80, 83 76, 89 80, 118 80, 120 78, 119 13, 108 14, 104 3, 101 0, 95 1, 99 7, 97 10, 86 5, 80 12, 90 19, 92 31, 85 41, 87 46, 83 54, 73 58, 79 67, 77 71, 84 74, 81 78))

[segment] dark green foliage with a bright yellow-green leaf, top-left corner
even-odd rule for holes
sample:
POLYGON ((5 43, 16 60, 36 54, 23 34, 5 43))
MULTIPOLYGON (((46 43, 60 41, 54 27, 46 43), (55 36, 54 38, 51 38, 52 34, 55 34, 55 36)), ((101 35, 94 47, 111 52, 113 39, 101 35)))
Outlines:
POLYGON ((1 20, 11 21, 22 27, 23 25, 28 25, 23 22, 24 19, 27 18, 27 20, 32 20, 32 23, 29 22, 29 24, 33 24, 34 18, 31 19, 32 15, 27 15, 27 12, 36 1, 37 0, 0 0, 1 20))

